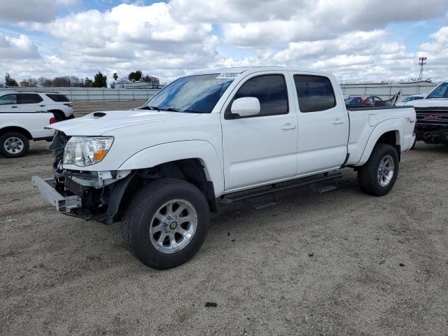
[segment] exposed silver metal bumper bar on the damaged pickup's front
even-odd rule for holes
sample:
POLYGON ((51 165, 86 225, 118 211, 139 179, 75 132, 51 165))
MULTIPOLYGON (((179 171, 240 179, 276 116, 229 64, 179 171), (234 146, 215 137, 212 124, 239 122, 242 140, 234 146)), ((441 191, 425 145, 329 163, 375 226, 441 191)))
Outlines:
POLYGON ((56 188, 55 179, 42 179, 40 176, 32 177, 35 186, 42 196, 59 212, 70 212, 71 209, 83 207, 81 197, 78 195, 66 196, 59 194, 56 188))

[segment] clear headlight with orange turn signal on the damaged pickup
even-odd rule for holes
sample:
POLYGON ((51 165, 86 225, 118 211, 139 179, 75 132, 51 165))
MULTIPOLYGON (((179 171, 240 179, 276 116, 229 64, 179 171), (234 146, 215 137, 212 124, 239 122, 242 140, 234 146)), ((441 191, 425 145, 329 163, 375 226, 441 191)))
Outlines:
POLYGON ((64 149, 64 164, 80 167, 103 160, 113 143, 113 137, 71 137, 64 149))

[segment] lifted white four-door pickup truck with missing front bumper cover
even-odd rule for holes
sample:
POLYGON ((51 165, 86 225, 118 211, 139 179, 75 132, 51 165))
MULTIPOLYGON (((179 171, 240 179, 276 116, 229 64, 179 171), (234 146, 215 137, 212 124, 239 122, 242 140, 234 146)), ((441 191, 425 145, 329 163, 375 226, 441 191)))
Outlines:
POLYGON ((346 110, 335 77, 281 67, 185 76, 140 109, 91 113, 52 125, 55 176, 34 186, 64 214, 111 224, 158 269, 190 259, 210 211, 358 171, 385 195, 414 143, 415 111, 346 110))

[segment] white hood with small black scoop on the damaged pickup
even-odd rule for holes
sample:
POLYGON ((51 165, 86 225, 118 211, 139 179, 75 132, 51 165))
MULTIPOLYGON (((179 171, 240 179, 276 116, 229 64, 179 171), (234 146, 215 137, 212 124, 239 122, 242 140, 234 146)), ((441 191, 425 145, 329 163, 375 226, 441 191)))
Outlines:
POLYGON ((117 130, 118 128, 191 118, 194 116, 198 116, 198 114, 139 109, 128 111, 99 111, 80 118, 54 123, 48 125, 46 128, 59 130, 69 136, 99 136, 106 132, 117 130))

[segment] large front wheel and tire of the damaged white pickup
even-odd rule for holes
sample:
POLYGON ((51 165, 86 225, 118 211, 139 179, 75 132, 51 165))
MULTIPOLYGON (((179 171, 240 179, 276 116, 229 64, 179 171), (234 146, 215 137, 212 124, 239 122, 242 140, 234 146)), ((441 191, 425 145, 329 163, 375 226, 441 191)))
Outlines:
POLYGON ((199 251, 209 221, 209 204, 196 186, 176 179, 155 180, 130 203, 123 221, 123 241, 149 267, 176 267, 199 251))

